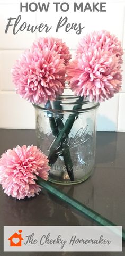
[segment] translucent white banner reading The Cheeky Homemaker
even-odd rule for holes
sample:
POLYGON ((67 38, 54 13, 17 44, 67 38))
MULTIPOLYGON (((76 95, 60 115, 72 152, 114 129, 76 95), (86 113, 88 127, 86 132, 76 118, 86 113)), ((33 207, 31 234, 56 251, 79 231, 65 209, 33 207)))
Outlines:
POLYGON ((5 252, 120 252, 121 226, 4 226, 5 252))

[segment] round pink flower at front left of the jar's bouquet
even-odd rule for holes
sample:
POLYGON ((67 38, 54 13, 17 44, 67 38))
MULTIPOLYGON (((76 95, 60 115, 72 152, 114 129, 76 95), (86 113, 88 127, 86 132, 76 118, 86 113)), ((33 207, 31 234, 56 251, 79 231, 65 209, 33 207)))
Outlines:
POLYGON ((48 48, 27 50, 12 69, 16 92, 36 104, 53 101, 64 92, 65 74, 64 61, 48 48))

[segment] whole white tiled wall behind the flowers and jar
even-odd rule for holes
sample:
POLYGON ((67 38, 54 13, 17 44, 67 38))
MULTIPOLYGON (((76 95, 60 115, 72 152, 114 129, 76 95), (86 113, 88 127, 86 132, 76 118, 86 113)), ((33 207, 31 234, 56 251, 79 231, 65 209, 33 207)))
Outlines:
MULTIPOLYGON (((20 2, 31 3, 30 0, 0 0, 0 128, 35 128, 34 109, 32 104, 21 99, 14 92, 14 85, 11 78, 11 68, 15 60, 20 56, 25 48, 28 48, 33 40, 39 36, 56 36, 63 38, 67 43, 73 57, 78 40, 87 32, 92 30, 107 29, 116 34, 122 41, 125 50, 125 2, 124 0, 108 0, 106 2, 106 12, 73 12, 73 0, 67 0, 70 4, 70 11, 55 12, 51 1, 44 0, 44 3, 50 2, 51 7, 48 12, 22 12, 20 13, 20 2), (36 25, 40 23, 52 26, 48 34, 44 32, 19 32, 17 35, 10 31, 5 34, 7 19, 18 15, 22 16, 22 21, 28 24, 36 25), (69 33, 65 28, 60 28, 55 32, 56 25, 60 17, 68 17, 69 23, 82 23, 85 28, 81 35, 76 35, 74 30, 69 33)), ((34 1, 40 2, 41 1, 34 1)), ((54 1, 53 1, 54 2, 54 1)), ((65 2, 60 0, 58 2, 65 2)), ((77 1, 77 3, 82 1, 77 1)), ((90 0, 90 3, 93 1, 90 0)), ((100 1, 98 1, 100 2, 100 1)), ((83 3, 85 3, 83 1, 83 3)), ((125 71, 125 54, 123 70, 125 71)), ((112 100, 101 104, 97 118, 97 129, 105 131, 125 131, 125 72, 123 72, 122 90, 112 100)))

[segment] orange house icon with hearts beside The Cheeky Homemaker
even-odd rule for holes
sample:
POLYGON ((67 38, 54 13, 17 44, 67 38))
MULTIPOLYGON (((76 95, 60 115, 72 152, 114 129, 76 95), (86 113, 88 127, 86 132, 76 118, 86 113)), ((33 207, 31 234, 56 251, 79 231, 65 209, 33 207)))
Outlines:
POLYGON ((14 233, 8 240, 10 240, 10 246, 21 247, 22 246, 22 230, 18 230, 20 234, 14 233))

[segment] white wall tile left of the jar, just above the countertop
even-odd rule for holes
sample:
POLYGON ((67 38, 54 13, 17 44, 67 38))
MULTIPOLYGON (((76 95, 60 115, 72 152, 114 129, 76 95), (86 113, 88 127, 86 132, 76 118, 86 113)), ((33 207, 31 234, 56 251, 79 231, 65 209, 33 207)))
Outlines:
POLYGON ((15 92, 1 92, 0 102, 1 128, 35 128, 32 104, 20 98, 15 92))

